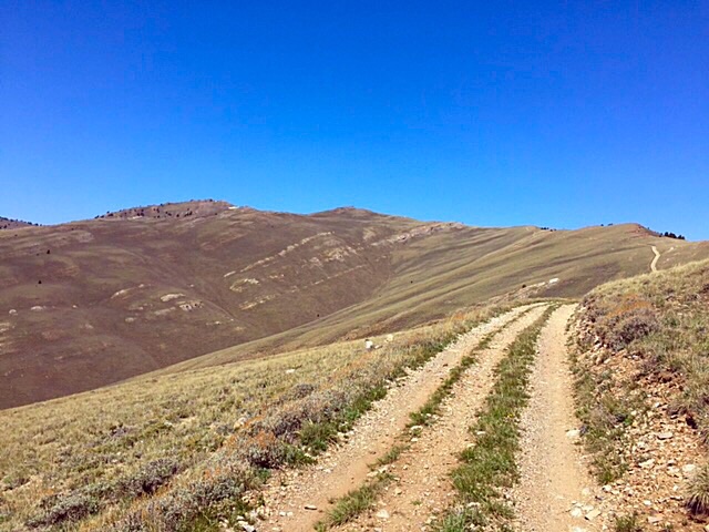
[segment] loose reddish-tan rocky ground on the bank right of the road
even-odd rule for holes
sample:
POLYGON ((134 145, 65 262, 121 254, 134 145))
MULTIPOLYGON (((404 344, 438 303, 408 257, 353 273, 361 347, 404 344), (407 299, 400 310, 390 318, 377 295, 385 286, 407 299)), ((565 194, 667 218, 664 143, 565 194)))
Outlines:
POLYGON ((633 412, 635 419, 625 430, 619 451, 627 471, 596 493, 604 529, 615 530, 618 516, 637 514, 637 522, 648 531, 709 531, 709 523, 692 518, 685 508, 687 482, 706 461, 706 447, 692 420, 671 408, 681 386, 644 372, 637 356, 625 350, 612 354, 599 341, 580 356, 593 361, 593 371, 614 375, 619 389, 640 389, 646 395, 633 412))

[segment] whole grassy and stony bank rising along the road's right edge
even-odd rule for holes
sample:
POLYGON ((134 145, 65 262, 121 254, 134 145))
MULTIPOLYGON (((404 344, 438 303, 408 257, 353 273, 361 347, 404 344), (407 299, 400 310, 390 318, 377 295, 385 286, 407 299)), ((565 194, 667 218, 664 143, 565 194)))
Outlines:
MULTIPOLYGON (((662 502, 681 530, 709 515, 709 262, 604 285, 577 314, 576 375, 598 479, 662 502), (698 473, 698 474, 697 474, 698 473), (685 513, 682 513, 685 512, 685 513)), ((644 518, 645 519, 645 518, 644 518)))

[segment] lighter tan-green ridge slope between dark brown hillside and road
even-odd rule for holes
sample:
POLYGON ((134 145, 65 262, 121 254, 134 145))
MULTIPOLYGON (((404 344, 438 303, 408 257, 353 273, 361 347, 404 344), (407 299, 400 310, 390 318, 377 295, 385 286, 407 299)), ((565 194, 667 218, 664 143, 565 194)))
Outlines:
POLYGON ((391 275, 373 297, 161 372, 404 329, 491 298, 583 297, 608 280, 649 272, 653 245, 661 253, 662 268, 696 256, 709 257, 707 243, 659 238, 636 224, 578 231, 466 227, 441 232, 397 248, 391 275))

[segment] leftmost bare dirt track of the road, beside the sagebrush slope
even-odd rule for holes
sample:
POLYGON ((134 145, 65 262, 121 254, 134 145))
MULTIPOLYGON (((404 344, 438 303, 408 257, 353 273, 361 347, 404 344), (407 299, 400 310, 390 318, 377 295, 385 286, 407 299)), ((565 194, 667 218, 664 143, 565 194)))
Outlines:
POLYGON ((326 453, 317 464, 275 475, 264 491, 266 519, 259 528, 284 532, 312 530, 331 507, 331 500, 362 484, 370 472, 369 464, 383 456, 405 429, 409 412, 423 406, 461 358, 485 335, 504 327, 525 308, 518 307, 472 329, 422 368, 412 371, 374 405, 343 443, 326 453))

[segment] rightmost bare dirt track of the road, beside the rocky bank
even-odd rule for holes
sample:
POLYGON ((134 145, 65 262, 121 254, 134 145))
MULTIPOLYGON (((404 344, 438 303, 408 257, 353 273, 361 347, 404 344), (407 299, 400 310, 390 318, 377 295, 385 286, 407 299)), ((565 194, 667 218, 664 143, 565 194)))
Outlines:
POLYGON ((515 530, 600 530, 594 492, 578 442, 565 327, 573 305, 557 309, 542 330, 531 376, 531 399, 521 428, 521 480, 512 491, 515 530))

